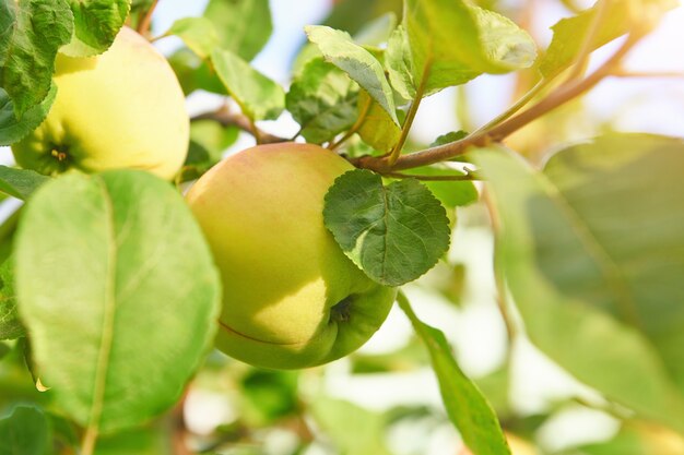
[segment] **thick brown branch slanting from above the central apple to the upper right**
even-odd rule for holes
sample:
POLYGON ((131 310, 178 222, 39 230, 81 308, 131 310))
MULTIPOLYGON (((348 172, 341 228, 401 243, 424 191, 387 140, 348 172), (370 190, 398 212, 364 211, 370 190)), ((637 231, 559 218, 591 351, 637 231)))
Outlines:
POLYGON ((555 108, 578 97, 579 95, 593 88, 605 77, 612 75, 614 69, 620 64, 621 60, 634 47, 640 37, 640 34, 629 35, 622 47, 617 49, 617 51, 593 73, 579 81, 568 81, 529 109, 503 121, 490 130, 475 132, 460 141, 402 155, 393 166, 388 166, 384 159, 374 156, 361 156, 351 161, 356 167, 372 169, 380 173, 387 173, 390 171, 446 161, 458 155, 462 155, 472 146, 482 147, 494 142, 500 142, 533 120, 536 120, 555 108))

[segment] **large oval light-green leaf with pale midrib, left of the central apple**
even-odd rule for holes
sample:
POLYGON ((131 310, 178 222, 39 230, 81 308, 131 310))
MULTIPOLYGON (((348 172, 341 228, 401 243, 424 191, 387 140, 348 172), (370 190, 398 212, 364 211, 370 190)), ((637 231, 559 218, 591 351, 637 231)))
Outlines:
POLYGON ((178 399, 213 343, 221 296, 172 185, 133 170, 57 178, 27 203, 14 254, 34 361, 67 415, 106 433, 178 399))

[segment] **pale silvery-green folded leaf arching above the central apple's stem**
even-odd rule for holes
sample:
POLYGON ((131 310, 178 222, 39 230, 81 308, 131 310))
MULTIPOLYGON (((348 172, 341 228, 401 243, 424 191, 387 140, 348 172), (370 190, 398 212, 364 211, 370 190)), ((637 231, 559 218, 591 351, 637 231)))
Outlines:
POLYGON ((380 62, 366 49, 354 44, 346 32, 322 25, 309 25, 304 29, 326 60, 356 81, 385 109, 390 119, 399 124, 394 112, 392 87, 385 79, 385 70, 380 62))

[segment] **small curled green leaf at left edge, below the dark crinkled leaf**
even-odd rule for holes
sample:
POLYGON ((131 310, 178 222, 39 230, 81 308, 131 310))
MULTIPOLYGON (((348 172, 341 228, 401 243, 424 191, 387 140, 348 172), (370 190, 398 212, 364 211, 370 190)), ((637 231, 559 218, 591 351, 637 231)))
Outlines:
POLYGON ((0 88, 0 146, 14 144, 38 128, 52 107, 56 95, 57 86, 52 85, 45 99, 17 120, 14 117, 14 104, 8 93, 0 88))

